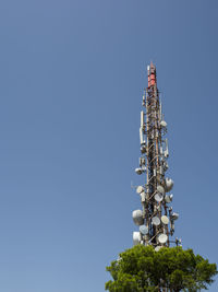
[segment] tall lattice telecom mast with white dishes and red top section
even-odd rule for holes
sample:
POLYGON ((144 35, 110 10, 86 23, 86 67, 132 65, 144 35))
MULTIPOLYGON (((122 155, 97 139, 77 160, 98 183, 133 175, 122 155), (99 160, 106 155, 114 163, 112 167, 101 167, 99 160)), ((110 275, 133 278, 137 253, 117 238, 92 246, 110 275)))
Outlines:
POLYGON ((156 67, 152 62, 147 67, 147 75, 148 86, 143 94, 144 109, 141 112, 140 167, 135 168, 136 174, 145 174, 145 184, 136 187, 142 210, 135 210, 132 214, 135 224, 140 226, 140 231, 133 233, 133 242, 150 244, 159 250, 171 242, 178 245, 181 240, 170 241, 179 214, 172 212, 172 207, 169 206, 173 195, 167 195, 173 187, 173 180, 165 176, 169 156, 168 140, 165 138, 167 122, 161 113, 156 67))

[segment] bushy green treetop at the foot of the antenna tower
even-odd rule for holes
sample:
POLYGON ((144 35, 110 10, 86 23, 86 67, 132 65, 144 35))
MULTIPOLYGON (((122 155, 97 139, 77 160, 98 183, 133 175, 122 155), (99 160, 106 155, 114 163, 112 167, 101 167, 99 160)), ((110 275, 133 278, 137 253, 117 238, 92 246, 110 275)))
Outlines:
POLYGON ((192 249, 136 245, 120 254, 106 268, 113 281, 106 283, 110 292, 201 291, 214 282, 216 264, 209 264, 192 249))

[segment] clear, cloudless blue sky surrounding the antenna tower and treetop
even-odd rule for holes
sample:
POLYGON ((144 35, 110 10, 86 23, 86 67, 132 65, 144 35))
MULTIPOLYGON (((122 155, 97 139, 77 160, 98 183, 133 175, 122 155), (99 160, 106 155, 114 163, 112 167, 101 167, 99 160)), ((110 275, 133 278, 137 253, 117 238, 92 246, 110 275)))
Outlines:
POLYGON ((104 291, 132 246, 150 60, 177 235, 218 262, 217 15, 217 0, 1 1, 0 291, 104 291))

